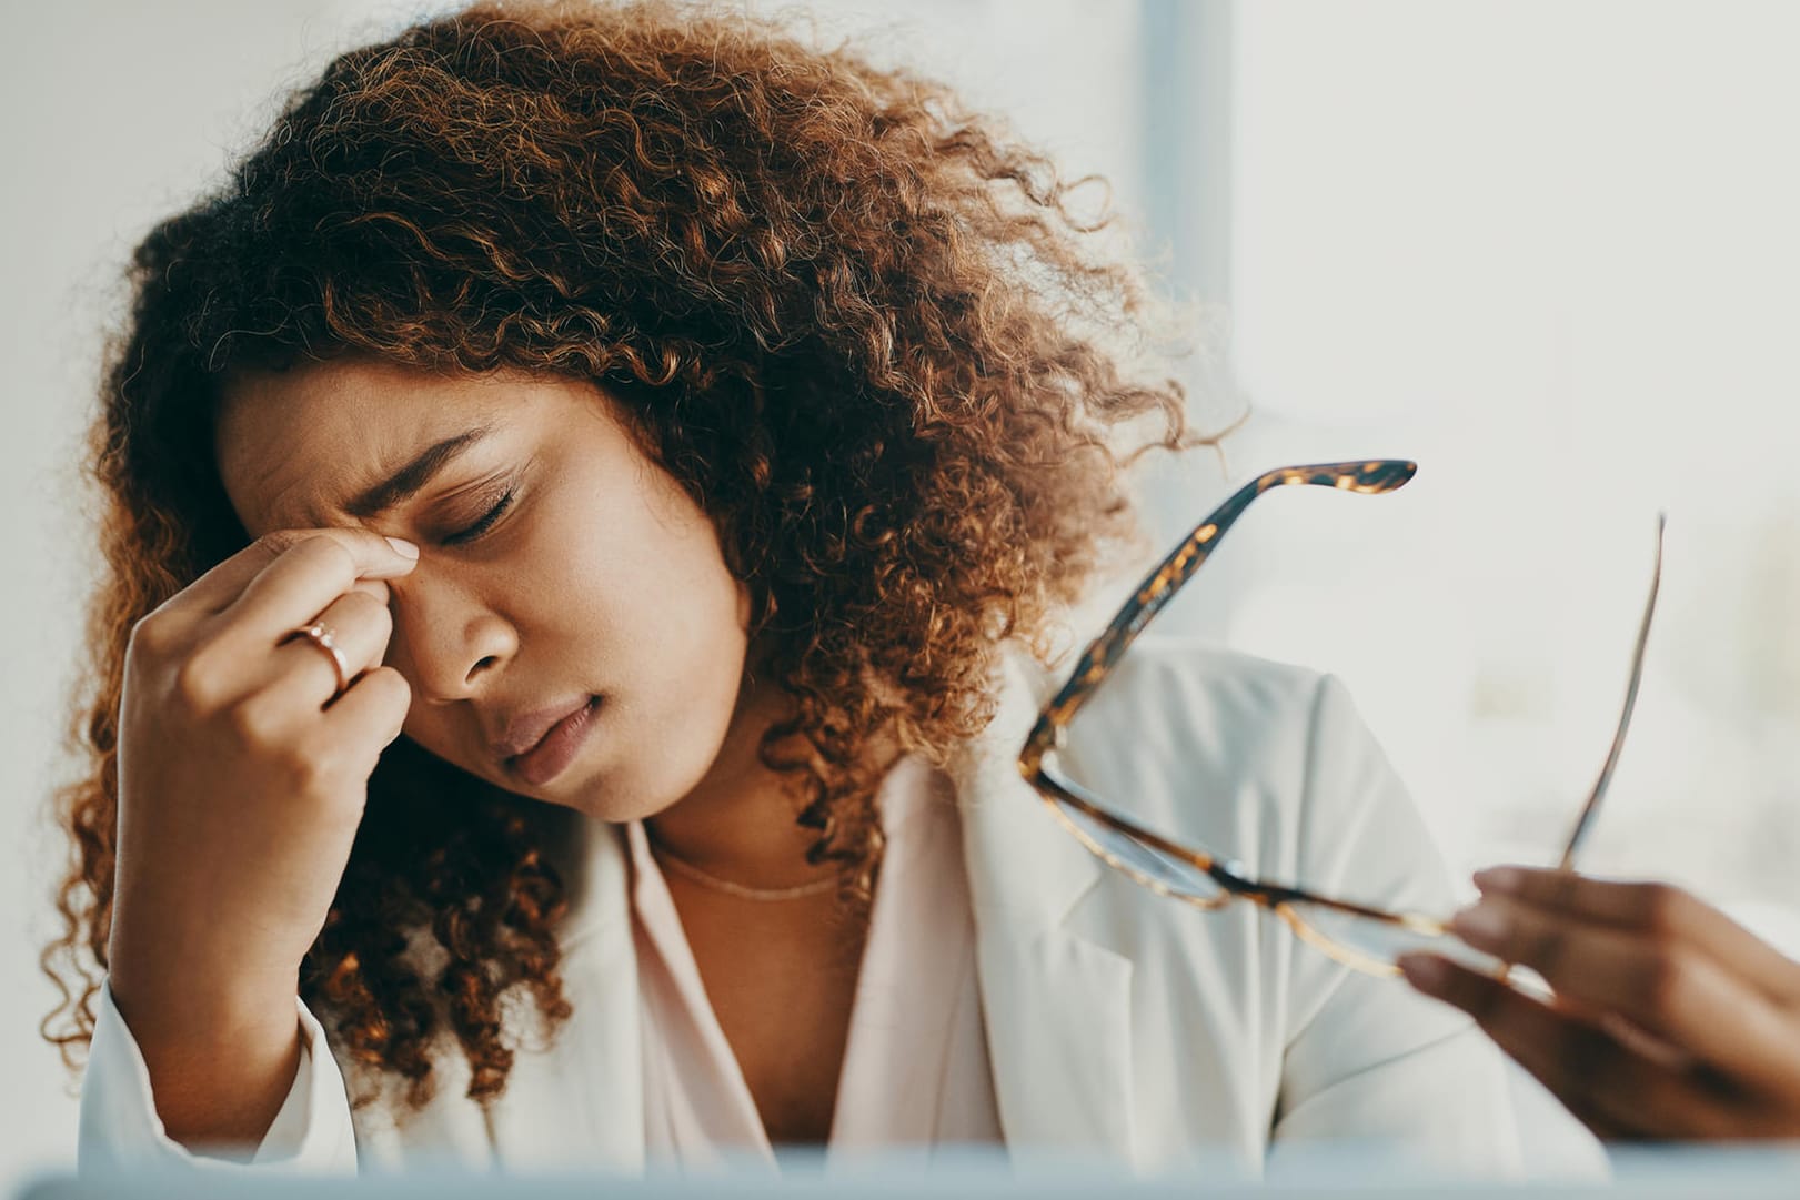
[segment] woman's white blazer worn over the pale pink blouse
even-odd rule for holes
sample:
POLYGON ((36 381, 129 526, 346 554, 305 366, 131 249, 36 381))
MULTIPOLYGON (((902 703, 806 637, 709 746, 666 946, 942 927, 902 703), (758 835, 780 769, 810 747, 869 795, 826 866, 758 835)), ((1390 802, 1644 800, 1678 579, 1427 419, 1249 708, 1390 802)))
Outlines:
MULTIPOLYGON (((1001 1126, 1033 1148, 1143 1169, 1285 1146, 1399 1144, 1514 1173, 1498 1052, 1402 982, 1345 970, 1260 909, 1201 912, 1075 842, 1015 759, 1053 680, 1006 664, 1001 707, 956 765, 977 973, 1001 1126)), ((1069 730, 1064 761, 1150 828, 1334 896, 1444 910, 1442 858, 1343 687, 1310 671, 1145 639, 1069 730)), ((574 1007, 522 1049, 506 1094, 466 1099, 439 1060, 416 1114, 346 1101, 302 1007, 308 1061, 252 1169, 644 1166, 626 858, 596 824, 563 937, 574 1007)), ((83 1168, 189 1160, 162 1135, 142 1058, 103 993, 83 1088, 83 1168)))

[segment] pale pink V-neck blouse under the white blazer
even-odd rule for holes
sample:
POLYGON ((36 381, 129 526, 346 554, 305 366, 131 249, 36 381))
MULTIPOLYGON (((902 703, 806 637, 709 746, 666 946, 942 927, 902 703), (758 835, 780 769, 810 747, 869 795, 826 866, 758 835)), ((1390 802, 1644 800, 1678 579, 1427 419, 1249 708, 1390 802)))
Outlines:
MULTIPOLYGON (((850 1015, 828 1160, 999 1144, 981 1025, 974 910, 950 781, 907 757, 880 788, 887 847, 850 1015)), ((650 1162, 774 1162, 668 883, 641 824, 626 826, 644 1025, 650 1162)))

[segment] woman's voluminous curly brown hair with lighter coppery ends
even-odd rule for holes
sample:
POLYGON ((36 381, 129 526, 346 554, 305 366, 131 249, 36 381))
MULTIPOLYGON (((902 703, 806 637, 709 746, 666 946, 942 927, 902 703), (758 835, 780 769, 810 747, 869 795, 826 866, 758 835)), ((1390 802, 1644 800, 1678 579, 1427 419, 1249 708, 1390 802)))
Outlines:
MULTIPOLYGON (((1123 462, 1193 441, 1116 338, 1154 302, 1078 184, 940 85, 742 14, 484 4, 338 56, 133 255, 45 1036, 76 1065, 94 1031, 131 628, 247 542, 212 457, 234 371, 365 356, 619 398, 751 590, 794 712, 763 761, 866 900, 873 739, 945 761, 979 734, 1003 642, 1048 657, 1134 534, 1123 462)), ((567 819, 383 756, 301 973, 340 1054, 419 1105, 448 1031, 468 1094, 502 1094, 509 993, 569 1013, 544 855, 567 819)))

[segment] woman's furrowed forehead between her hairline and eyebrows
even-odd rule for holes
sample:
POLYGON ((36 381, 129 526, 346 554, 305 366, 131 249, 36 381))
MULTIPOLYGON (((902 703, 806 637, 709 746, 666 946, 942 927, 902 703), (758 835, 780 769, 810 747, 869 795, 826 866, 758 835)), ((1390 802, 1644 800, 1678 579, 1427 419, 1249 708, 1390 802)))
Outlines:
POLYGON ((220 403, 220 479, 250 533, 346 524, 349 497, 439 441, 544 419, 545 389, 558 385, 374 362, 245 374, 220 403))

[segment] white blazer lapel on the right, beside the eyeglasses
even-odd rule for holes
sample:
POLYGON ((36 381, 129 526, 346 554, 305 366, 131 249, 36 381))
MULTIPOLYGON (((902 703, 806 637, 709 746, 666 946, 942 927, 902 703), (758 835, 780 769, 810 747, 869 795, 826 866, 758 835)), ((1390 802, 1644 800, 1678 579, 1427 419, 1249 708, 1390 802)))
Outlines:
POLYGON ((1010 1148, 1130 1160, 1132 963, 1069 927, 1105 867, 1017 766, 1046 696, 1042 667, 1010 657, 999 712, 954 768, 994 1092, 1010 1148))

